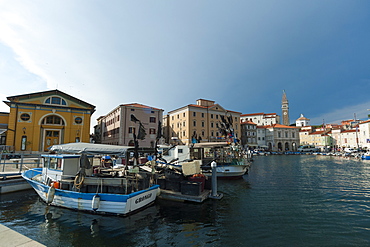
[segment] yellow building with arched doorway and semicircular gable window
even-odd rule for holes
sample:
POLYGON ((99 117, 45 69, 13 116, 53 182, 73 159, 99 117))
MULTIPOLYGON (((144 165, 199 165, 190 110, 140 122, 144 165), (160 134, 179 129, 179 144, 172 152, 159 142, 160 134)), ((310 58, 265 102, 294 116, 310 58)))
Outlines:
POLYGON ((54 144, 90 141, 95 106, 59 90, 7 97, 6 145, 14 151, 48 151, 54 144))

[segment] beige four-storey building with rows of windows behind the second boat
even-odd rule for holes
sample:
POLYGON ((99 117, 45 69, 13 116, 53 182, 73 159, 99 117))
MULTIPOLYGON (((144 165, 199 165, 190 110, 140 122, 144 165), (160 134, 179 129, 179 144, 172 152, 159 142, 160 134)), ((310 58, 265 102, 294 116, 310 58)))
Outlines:
POLYGON ((164 117, 164 135, 167 143, 190 144, 199 142, 225 141, 220 131, 222 118, 232 120, 235 138, 241 138, 240 112, 224 109, 215 101, 198 99, 190 104, 168 112, 164 117))

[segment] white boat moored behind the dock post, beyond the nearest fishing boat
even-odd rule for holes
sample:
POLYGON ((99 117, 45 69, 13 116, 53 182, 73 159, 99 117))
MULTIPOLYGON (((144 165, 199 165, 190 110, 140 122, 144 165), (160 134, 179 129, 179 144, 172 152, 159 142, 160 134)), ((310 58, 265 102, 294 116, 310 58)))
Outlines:
POLYGON ((216 161, 217 177, 240 178, 248 172, 250 159, 241 146, 228 142, 194 143, 189 146, 159 146, 165 162, 181 165, 183 162, 199 161, 202 173, 212 176, 211 163, 216 161))

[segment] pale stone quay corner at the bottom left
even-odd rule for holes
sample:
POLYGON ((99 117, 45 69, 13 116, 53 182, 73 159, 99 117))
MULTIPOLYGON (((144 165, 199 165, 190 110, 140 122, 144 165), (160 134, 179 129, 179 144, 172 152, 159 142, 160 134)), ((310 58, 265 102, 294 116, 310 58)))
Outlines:
POLYGON ((22 234, 13 231, 9 227, 0 224, 0 247, 41 247, 45 246, 22 234))

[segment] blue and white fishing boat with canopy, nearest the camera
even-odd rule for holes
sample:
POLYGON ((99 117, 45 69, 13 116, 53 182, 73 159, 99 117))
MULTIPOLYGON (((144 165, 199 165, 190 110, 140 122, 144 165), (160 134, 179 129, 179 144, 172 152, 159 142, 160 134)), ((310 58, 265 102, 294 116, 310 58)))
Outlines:
POLYGON ((93 155, 130 157, 133 147, 91 143, 54 145, 56 154, 42 155, 43 167, 25 171, 40 198, 53 206, 100 214, 128 215, 151 205, 160 192, 153 174, 129 169, 94 167, 93 155), (70 154, 66 154, 70 153, 70 154))

